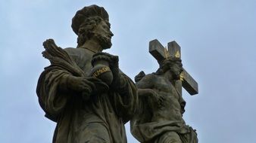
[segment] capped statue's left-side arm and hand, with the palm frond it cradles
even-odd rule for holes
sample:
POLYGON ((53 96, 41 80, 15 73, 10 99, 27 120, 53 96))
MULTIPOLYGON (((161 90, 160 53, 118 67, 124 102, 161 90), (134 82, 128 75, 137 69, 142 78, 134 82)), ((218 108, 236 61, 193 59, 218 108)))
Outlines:
POLYGON ((45 41, 44 47, 42 54, 51 65, 40 75, 36 93, 42 109, 54 120, 53 117, 61 114, 73 96, 80 96, 81 93, 85 97, 83 99, 88 99, 95 87, 92 81, 99 80, 86 77, 67 51, 58 47, 53 40, 45 41))

